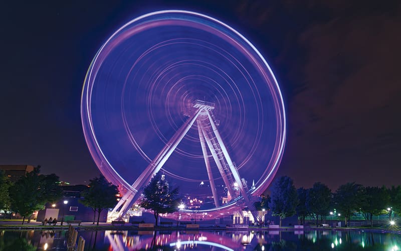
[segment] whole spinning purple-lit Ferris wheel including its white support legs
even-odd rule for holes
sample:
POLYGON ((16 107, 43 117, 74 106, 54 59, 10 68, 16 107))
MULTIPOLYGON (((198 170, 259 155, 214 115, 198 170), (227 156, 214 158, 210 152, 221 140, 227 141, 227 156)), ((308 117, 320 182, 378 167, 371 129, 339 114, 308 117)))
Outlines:
POLYGON ((92 157, 124 194, 119 216, 159 171, 210 198, 199 211, 249 205, 282 157, 272 71, 245 37, 202 14, 161 11, 121 27, 90 65, 81 109, 92 157))

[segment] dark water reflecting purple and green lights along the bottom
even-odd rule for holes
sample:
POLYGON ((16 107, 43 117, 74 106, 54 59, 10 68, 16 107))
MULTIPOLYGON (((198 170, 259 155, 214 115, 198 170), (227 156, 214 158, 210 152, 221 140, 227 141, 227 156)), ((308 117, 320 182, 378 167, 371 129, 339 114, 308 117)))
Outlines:
MULTIPOLYGON (((67 250, 67 231, 0 230, 1 250, 67 250)), ((401 250, 401 235, 364 231, 80 230, 85 250, 401 250)))

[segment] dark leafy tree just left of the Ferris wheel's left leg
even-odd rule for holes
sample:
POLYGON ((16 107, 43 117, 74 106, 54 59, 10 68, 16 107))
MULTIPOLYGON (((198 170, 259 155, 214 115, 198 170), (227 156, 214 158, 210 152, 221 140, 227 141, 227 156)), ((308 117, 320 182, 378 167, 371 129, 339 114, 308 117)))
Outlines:
POLYGON ((116 205, 117 194, 117 187, 108 182, 103 175, 100 175, 99 178, 94 178, 93 180, 90 180, 88 189, 84 190, 81 193, 81 196, 84 197, 84 199, 81 200, 81 203, 92 208, 94 212, 94 218, 96 212, 98 213, 96 225, 99 225, 100 213, 104 209, 116 205))

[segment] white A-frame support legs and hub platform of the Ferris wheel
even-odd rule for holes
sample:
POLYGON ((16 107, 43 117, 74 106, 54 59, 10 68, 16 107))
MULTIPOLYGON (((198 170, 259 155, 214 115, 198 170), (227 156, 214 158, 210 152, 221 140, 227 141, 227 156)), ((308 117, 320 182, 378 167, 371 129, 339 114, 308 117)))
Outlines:
MULTIPOLYGON (((120 199, 117 205, 114 207, 112 213, 117 215, 117 219, 121 219, 122 216, 132 207, 133 203, 139 199, 142 189, 149 183, 152 177, 163 167, 165 162, 175 151, 178 144, 182 141, 189 129, 193 126, 193 123, 197 123, 197 131, 199 135, 200 145, 202 147, 202 153, 205 160, 205 165, 210 181, 212 194, 215 202, 215 206, 219 207, 219 196, 213 178, 212 167, 209 161, 208 148, 212 154, 213 160, 215 161, 220 175, 223 178, 223 182, 226 185, 228 192, 232 198, 236 198, 235 191, 233 189, 233 179, 238 184, 242 197, 245 199, 247 204, 250 203, 247 191, 245 191, 244 184, 242 183, 241 177, 238 173, 236 166, 230 158, 226 146, 217 130, 216 124, 210 114, 210 110, 214 109, 214 103, 196 100, 194 108, 196 111, 190 116, 185 123, 175 132, 172 138, 166 143, 163 149, 157 154, 157 156, 150 162, 146 169, 139 175, 139 177, 132 184, 129 191, 120 199), (228 166, 228 168, 227 168, 228 166), (232 175, 232 176, 231 176, 232 175), (118 211, 118 212, 117 212, 118 211)), ((252 210, 251 210, 252 211, 252 210)), ((253 212, 254 214, 254 212, 253 212)))

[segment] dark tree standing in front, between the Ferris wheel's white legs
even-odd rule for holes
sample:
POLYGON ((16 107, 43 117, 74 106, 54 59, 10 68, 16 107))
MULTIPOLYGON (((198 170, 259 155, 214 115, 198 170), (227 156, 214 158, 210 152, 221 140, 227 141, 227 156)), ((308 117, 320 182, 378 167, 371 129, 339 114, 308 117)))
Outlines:
POLYGON ((156 174, 143 189, 143 198, 140 206, 153 210, 154 219, 157 220, 160 213, 173 213, 177 211, 181 198, 178 196, 178 187, 171 189, 166 180, 161 180, 160 174, 156 174))

